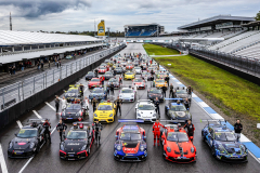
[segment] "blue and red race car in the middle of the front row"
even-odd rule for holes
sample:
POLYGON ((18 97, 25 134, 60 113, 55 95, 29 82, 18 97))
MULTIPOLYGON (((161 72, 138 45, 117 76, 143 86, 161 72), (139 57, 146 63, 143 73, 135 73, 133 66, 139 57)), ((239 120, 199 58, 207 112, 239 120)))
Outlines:
MULTIPOLYGON (((118 121, 120 122, 120 120, 118 121)), ((119 128, 116 132, 116 143, 114 147, 115 160, 144 161, 146 157, 147 146, 145 130, 136 124, 125 124, 119 128)))

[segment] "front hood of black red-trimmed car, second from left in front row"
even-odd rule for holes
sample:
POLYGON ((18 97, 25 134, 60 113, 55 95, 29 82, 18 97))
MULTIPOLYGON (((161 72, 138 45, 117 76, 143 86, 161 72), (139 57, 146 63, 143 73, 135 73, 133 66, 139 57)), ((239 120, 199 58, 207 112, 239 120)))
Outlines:
POLYGON ((78 152, 81 151, 82 146, 87 145, 87 139, 65 139, 64 149, 67 152, 78 152))

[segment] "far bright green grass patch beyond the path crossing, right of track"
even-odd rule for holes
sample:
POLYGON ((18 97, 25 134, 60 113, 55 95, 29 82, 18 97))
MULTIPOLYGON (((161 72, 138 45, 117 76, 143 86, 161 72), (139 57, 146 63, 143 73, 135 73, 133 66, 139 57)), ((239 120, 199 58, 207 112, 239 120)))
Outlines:
POLYGON ((179 52, 176 51, 176 50, 161 48, 159 45, 143 44, 143 46, 150 55, 174 55, 174 54, 179 54, 179 52))

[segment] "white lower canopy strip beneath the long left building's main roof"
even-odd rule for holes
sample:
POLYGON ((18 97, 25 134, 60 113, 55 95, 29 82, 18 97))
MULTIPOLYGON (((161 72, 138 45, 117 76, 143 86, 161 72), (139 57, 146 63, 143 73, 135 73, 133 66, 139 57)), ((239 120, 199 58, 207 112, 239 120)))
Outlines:
POLYGON ((65 53, 67 51, 72 52, 75 50, 83 50, 87 48, 94 48, 94 46, 100 46, 100 45, 102 45, 102 43, 4 55, 4 56, 0 56, 0 63, 8 64, 8 63, 23 61, 23 58, 31 59, 31 58, 37 58, 40 56, 49 56, 49 55, 53 55, 53 54, 65 53))

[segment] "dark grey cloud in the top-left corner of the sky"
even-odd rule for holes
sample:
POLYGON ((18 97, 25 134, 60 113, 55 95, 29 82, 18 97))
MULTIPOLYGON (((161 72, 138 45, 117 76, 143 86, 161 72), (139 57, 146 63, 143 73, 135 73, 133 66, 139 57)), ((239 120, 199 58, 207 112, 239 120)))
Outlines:
POLYGON ((26 18, 39 17, 50 13, 61 13, 67 9, 83 9, 91 6, 90 0, 6 0, 0 1, 0 6, 15 6, 26 18))

